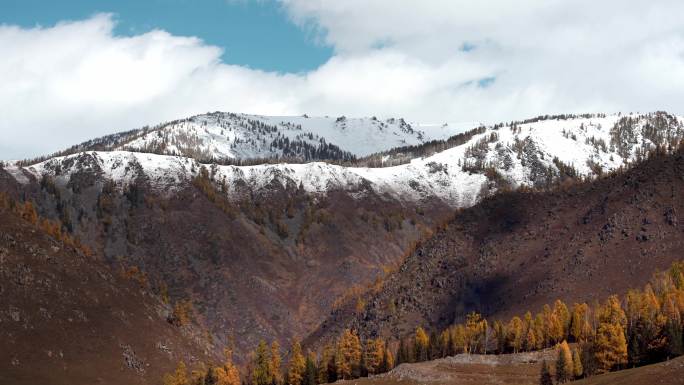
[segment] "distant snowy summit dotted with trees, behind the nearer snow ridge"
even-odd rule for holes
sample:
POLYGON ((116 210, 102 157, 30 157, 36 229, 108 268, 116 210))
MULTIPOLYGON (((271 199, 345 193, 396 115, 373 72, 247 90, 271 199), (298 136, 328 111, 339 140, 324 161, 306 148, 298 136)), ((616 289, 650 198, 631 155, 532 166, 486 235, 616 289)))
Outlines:
POLYGON ((84 150, 126 150, 220 162, 350 160, 444 139, 472 123, 421 125, 403 119, 257 116, 215 112, 86 142, 84 150))

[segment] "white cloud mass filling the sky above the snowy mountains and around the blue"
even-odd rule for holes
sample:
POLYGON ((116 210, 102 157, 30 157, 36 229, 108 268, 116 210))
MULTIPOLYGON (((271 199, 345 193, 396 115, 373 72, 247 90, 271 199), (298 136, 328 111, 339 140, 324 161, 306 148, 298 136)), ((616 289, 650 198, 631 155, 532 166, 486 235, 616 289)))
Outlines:
POLYGON ((197 38, 115 36, 109 15, 0 26, 0 159, 211 110, 431 122, 684 112, 681 1, 282 5, 335 56, 306 74, 277 74, 225 64, 197 38))

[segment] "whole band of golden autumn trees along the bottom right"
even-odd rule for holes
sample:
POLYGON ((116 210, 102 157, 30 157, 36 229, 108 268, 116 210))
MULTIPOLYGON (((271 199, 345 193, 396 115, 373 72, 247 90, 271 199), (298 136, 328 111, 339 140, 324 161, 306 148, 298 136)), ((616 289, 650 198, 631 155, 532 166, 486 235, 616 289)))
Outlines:
POLYGON ((398 341, 364 340, 354 330, 345 329, 319 352, 308 350, 305 354, 295 341, 287 365, 282 365, 277 342, 268 345, 261 341, 242 376, 234 365, 224 363, 179 377, 179 371, 185 370, 181 363, 182 367, 179 364, 176 372, 167 376, 165 385, 238 384, 216 382, 228 369, 250 385, 315 385, 380 374, 402 363, 456 354, 510 354, 548 348, 556 349, 557 358, 553 367, 543 363, 540 383, 565 383, 684 354, 682 316, 684 262, 675 262, 669 269, 655 273, 642 289, 629 290, 622 297, 611 295, 603 302, 574 303, 569 307, 556 300, 534 315, 528 311, 507 321, 488 321, 471 312, 464 322, 439 333, 429 333, 419 326, 413 335, 398 341), (178 378, 185 382, 178 382, 178 378))

